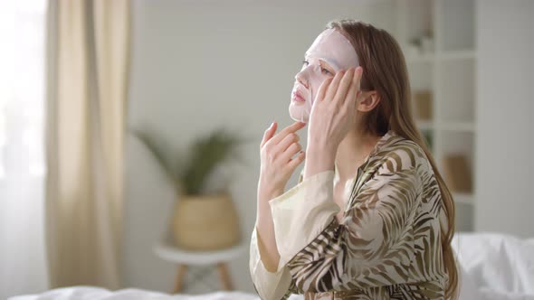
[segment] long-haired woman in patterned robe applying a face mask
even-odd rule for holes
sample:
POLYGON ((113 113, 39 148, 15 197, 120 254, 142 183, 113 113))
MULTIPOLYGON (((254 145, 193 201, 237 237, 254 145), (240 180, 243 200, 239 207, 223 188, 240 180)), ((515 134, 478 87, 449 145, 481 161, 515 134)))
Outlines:
POLYGON ((456 299, 454 205, 415 127, 395 39, 330 22, 261 144, 250 271, 265 300, 456 299), (296 132, 308 124, 301 151, 296 132), (299 183, 284 192, 295 168, 299 183))

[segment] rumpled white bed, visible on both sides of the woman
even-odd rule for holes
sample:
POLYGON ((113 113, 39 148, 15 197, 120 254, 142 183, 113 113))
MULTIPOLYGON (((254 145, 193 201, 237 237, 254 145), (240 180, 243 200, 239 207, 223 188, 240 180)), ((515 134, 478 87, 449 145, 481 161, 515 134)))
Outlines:
MULTIPOLYGON (((461 300, 534 300, 534 239, 496 233, 459 233, 453 247, 461 265, 461 300)), ((167 295, 139 289, 110 292, 91 286, 55 289, 8 300, 259 300, 243 292, 167 295)), ((293 295, 302 299, 302 295, 293 295)))

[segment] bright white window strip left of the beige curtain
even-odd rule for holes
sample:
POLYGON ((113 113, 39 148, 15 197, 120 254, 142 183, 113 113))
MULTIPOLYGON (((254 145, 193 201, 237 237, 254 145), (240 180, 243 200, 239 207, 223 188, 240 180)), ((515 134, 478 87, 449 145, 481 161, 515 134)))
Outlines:
POLYGON ((48 287, 45 14, 46 0, 0 0, 0 299, 48 287))

